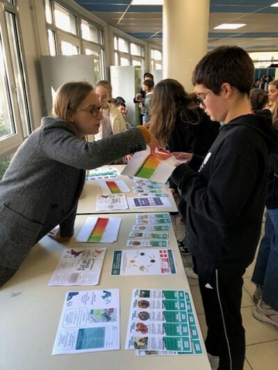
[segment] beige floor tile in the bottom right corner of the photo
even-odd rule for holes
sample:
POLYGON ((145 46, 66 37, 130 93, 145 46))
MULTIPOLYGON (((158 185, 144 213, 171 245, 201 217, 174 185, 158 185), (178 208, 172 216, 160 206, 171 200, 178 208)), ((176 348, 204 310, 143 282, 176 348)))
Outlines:
POLYGON ((245 356, 253 370, 277 370, 278 340, 247 346, 245 356))

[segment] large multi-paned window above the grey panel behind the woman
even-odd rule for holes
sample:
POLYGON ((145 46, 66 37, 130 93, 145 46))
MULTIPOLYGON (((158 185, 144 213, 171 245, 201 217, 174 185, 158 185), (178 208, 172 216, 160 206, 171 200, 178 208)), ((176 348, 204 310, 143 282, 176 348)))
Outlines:
POLYGON ((91 55, 95 81, 105 79, 104 31, 59 1, 45 0, 45 19, 49 54, 91 55))

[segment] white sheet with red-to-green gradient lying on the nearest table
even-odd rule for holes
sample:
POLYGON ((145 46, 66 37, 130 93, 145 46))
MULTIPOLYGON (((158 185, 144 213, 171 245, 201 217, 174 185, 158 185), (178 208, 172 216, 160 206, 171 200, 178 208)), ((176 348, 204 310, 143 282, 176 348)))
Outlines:
POLYGON ((94 217, 85 220, 76 241, 87 243, 114 243, 120 230, 120 217, 94 217))

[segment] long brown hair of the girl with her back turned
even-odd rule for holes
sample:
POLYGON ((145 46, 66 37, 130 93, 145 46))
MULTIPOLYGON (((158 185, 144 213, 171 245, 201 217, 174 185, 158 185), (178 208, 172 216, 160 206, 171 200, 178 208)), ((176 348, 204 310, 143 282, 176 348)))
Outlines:
POLYGON ((174 129, 177 118, 185 124, 199 124, 199 102, 195 94, 186 93, 179 81, 164 79, 154 87, 149 129, 164 146, 174 129))

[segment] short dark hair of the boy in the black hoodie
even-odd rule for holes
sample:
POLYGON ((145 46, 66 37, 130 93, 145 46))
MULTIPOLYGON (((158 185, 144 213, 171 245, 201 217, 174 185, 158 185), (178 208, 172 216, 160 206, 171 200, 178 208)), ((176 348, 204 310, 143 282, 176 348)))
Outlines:
POLYGON ((254 83, 254 64, 241 47, 217 47, 196 65, 192 82, 194 86, 206 86, 216 95, 220 95, 222 84, 227 82, 249 95, 254 83))

